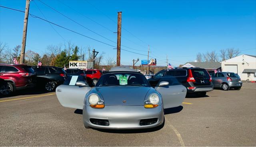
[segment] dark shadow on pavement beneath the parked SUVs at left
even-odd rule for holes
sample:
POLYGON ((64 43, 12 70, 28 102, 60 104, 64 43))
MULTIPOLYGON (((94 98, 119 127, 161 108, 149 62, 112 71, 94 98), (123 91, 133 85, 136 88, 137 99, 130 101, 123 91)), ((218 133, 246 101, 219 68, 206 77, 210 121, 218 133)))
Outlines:
POLYGON ((8 95, 8 96, 0 95, 0 98, 13 97, 13 96, 18 96, 18 95, 44 94, 44 93, 49 93, 49 92, 44 89, 40 89, 39 87, 38 88, 35 87, 35 88, 16 90, 14 93, 12 93, 11 95, 8 95))

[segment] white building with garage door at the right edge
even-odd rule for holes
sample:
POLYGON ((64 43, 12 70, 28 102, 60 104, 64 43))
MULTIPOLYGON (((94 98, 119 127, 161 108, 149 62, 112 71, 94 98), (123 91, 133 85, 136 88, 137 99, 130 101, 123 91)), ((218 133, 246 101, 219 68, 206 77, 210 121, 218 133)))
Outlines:
POLYGON ((240 55, 221 62, 222 72, 234 72, 242 80, 256 81, 256 56, 240 55))

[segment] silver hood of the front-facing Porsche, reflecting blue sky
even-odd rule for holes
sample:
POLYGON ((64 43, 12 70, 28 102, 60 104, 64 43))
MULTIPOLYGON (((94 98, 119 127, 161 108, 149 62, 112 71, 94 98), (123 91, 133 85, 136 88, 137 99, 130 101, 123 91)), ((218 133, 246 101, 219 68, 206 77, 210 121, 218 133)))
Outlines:
POLYGON ((144 105, 150 87, 108 86, 96 90, 101 93, 105 105, 144 105))

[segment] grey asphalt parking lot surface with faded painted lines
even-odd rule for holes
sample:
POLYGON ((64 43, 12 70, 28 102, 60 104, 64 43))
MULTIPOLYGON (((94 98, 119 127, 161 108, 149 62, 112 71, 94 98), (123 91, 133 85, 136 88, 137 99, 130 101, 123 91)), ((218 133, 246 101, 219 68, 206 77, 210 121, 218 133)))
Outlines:
POLYGON ((163 128, 126 131, 85 129, 55 92, 26 92, 0 98, 0 146, 256 146, 256 83, 186 98, 163 128))

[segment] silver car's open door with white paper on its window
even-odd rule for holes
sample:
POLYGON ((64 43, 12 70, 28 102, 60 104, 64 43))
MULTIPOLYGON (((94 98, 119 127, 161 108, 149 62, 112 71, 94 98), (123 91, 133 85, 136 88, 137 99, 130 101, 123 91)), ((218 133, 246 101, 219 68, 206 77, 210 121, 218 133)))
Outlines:
POLYGON ((86 93, 92 88, 81 75, 68 76, 63 85, 56 88, 56 95, 64 107, 83 109, 86 93))

